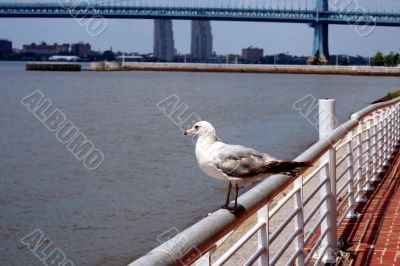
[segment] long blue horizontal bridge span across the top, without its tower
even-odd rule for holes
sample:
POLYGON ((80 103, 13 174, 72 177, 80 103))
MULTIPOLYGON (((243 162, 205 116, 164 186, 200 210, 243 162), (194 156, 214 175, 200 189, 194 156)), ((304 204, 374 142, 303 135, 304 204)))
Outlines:
MULTIPOLYGON (((1 0, 0 0, 1 1, 1 0)), ((78 1, 78 3, 81 1, 78 1)), ((400 26, 400 10, 393 7, 386 10, 319 10, 278 8, 245 8, 222 6, 160 6, 160 5, 100 5, 99 2, 87 4, 68 4, 67 2, 11 3, 0 2, 0 18, 39 17, 39 18, 86 18, 86 19, 176 19, 176 20, 222 20, 253 22, 328 23, 353 25, 356 31, 369 34, 366 26, 400 26)), ((112 1, 111 1, 112 3, 112 1)))

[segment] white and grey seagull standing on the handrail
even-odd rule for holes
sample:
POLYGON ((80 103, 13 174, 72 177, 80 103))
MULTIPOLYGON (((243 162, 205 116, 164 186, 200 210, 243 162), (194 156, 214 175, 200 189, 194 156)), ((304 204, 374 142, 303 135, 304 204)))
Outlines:
POLYGON ((196 158, 200 169, 212 178, 229 182, 224 207, 237 209, 239 185, 248 184, 261 177, 274 174, 298 176, 310 162, 277 160, 268 154, 241 145, 226 144, 218 140, 214 127, 207 121, 194 124, 184 132, 186 136, 196 136, 196 158), (232 186, 235 186, 235 205, 229 207, 232 186))

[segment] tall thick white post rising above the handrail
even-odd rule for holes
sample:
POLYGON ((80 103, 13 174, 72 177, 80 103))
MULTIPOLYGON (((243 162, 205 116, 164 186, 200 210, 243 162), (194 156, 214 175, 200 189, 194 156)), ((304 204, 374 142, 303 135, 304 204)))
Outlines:
MULTIPOLYGON (((335 100, 319 100, 319 138, 323 139, 333 132, 336 126, 335 100)), ((337 201, 336 201, 336 148, 335 143, 331 143, 329 152, 321 157, 320 163, 325 164, 328 161, 329 171, 322 171, 320 174, 321 182, 325 185, 321 188, 321 197, 326 195, 327 200, 321 206, 321 215, 328 212, 328 215, 321 224, 321 232, 328 230, 327 236, 323 239, 321 248, 328 246, 328 249, 322 259, 324 263, 336 262, 337 251, 337 201), (328 172, 327 176, 325 173, 328 172)))

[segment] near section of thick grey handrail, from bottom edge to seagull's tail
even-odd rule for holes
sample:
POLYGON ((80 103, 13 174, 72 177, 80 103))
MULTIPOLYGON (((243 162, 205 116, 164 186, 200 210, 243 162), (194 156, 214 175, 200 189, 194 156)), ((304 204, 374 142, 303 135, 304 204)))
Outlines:
POLYGON ((234 215, 226 209, 219 209, 130 265, 184 265, 183 262, 195 261, 212 249, 218 239, 255 214, 292 181, 293 178, 289 176, 269 177, 238 198, 239 206, 243 206, 246 211, 234 215), (193 248, 197 254, 192 254, 193 248))

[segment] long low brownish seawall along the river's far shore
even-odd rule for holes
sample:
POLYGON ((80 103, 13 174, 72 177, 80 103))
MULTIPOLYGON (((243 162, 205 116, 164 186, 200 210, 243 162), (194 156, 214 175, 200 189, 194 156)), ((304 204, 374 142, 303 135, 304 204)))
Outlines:
MULTIPOLYGON (((242 65, 193 63, 126 63, 125 71, 317 74, 354 76, 400 76, 400 67, 314 66, 314 65, 242 65)), ((115 71, 115 70, 114 70, 115 71)))

